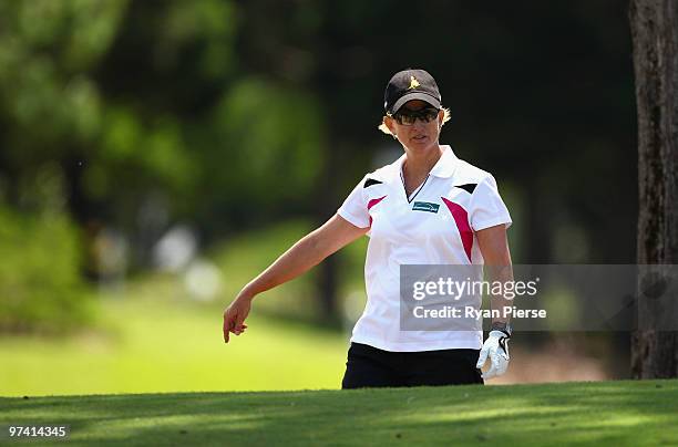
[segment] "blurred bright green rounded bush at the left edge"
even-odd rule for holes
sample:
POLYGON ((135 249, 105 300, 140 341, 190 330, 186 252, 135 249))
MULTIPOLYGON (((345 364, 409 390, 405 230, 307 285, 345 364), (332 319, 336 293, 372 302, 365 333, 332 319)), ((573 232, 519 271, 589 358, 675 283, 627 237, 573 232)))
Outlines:
POLYGON ((62 332, 93 316, 78 232, 64 215, 0 207, 0 332, 62 332))

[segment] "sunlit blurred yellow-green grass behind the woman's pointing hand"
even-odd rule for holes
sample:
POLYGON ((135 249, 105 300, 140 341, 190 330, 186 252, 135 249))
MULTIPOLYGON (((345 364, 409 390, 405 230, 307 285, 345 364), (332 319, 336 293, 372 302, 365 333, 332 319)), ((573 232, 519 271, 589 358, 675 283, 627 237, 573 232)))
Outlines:
MULTIPOLYGON (((338 388, 349 334, 302 324, 319 314, 309 274, 258 297, 247 333, 222 341, 224 308, 309 228, 282 222, 214 248, 224 287, 213 302, 192 300, 181 278, 147 274, 119 297, 93 300, 100 321, 88 333, 0 334, 0 396, 338 388)), ((341 297, 359 290, 351 297, 362 310, 364 252, 351 250, 347 259, 360 262, 348 262, 350 278, 359 281, 343 284, 341 297)))

